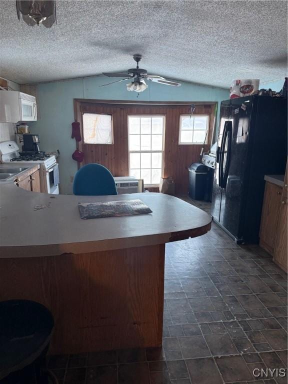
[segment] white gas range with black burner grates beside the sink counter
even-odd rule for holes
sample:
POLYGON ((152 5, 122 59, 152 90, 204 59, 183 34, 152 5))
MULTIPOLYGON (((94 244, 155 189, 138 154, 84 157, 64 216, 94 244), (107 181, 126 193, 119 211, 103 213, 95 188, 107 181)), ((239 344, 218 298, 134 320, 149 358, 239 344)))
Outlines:
POLYGON ((43 153, 19 155, 19 147, 15 141, 0 142, 0 155, 2 163, 13 162, 14 164, 23 165, 24 162, 25 165, 39 164, 41 192, 59 194, 59 185, 56 181, 58 164, 54 155, 43 153))

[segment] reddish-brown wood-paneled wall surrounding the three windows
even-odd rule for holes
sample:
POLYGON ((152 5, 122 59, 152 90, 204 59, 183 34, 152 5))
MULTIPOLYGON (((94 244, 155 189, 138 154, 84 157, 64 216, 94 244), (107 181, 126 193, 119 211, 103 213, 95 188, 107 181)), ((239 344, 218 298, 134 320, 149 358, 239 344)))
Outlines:
MULTIPOLYGON (((128 119, 129 114, 165 115, 163 177, 171 176, 175 180, 176 193, 188 190, 188 166, 199 160, 201 144, 178 144, 180 114, 190 113, 189 103, 179 104, 127 104, 100 102, 98 100, 74 100, 75 119, 80 122, 82 131, 82 113, 112 114, 113 144, 85 144, 78 142, 78 149, 84 152, 82 164, 98 162, 106 166, 114 176, 128 175, 128 119)), ((195 103, 194 114, 209 115, 207 142, 211 142, 214 125, 215 103, 195 103)), ((83 137, 83 134, 82 134, 83 137)), ((209 144, 204 145, 204 151, 209 144)), ((81 164, 81 165, 82 165, 81 164)))

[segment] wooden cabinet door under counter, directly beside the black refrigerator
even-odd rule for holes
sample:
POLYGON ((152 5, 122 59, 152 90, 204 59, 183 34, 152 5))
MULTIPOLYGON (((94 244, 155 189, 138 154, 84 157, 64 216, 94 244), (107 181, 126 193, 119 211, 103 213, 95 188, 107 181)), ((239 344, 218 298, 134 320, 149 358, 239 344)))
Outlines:
POLYGON ((276 226, 282 188, 271 182, 265 183, 264 200, 260 225, 260 246, 273 254, 276 239, 276 226))

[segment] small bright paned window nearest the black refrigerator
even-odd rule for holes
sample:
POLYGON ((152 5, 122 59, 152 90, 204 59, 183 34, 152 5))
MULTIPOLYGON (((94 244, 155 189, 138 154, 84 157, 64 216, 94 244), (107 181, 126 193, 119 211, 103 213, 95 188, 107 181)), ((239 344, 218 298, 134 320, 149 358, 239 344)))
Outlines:
POLYGON ((180 115, 179 144, 207 143, 208 115, 180 115))

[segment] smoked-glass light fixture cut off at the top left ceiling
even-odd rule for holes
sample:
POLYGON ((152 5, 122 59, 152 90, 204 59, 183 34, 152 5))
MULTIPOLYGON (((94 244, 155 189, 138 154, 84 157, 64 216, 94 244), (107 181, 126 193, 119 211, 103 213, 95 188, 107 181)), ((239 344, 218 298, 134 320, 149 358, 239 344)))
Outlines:
POLYGON ((20 20, 21 13, 23 21, 31 26, 43 24, 50 28, 56 23, 55 0, 16 0, 16 11, 18 19, 20 20))

